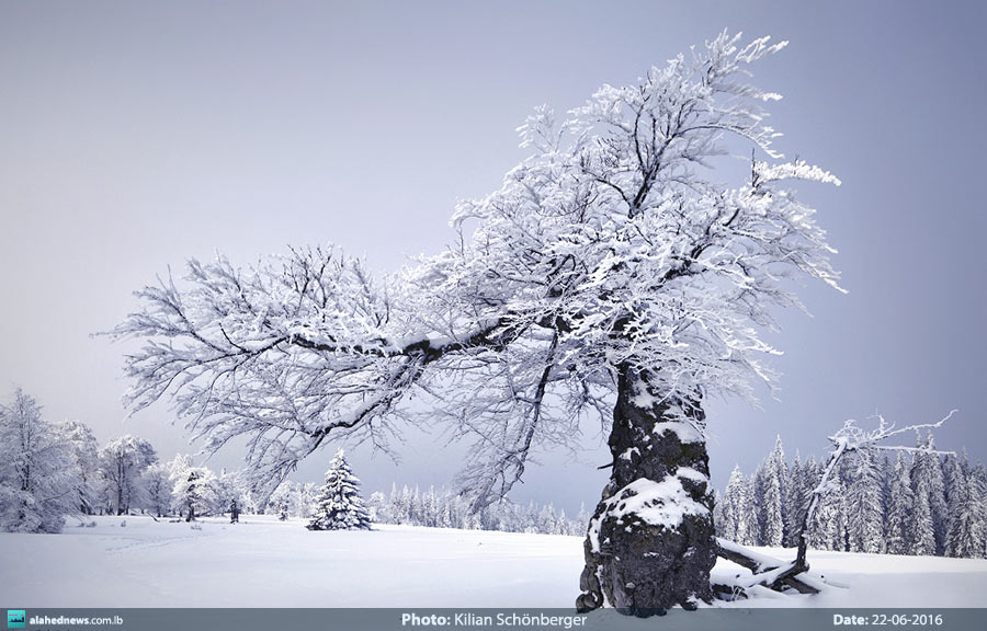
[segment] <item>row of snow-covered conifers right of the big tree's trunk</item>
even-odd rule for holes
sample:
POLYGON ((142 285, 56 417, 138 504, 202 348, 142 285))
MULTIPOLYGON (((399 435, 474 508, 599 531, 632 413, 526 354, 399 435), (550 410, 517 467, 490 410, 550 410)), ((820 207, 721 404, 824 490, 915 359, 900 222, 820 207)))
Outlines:
MULTIPOLYGON (((987 469, 965 452, 933 450, 929 435, 912 451, 854 451, 841 460, 808 525, 809 548, 987 557, 987 469)), ((717 534, 745 546, 797 546, 820 477, 815 457, 787 462, 779 438, 752 475, 734 469, 717 497, 717 534)))

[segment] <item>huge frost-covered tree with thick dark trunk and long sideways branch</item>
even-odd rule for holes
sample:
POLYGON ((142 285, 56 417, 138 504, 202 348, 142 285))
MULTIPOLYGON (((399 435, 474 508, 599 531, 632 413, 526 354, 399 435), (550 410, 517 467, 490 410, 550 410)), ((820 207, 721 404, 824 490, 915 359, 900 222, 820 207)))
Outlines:
POLYGON ((783 46, 724 33, 565 116, 538 108, 520 129, 530 157, 457 208, 453 248, 398 276, 332 248, 190 262, 114 331, 147 341, 127 359, 132 408, 173 397, 213 449, 249 436, 249 470, 273 487, 327 439, 382 444, 413 416, 402 403, 428 397, 432 420, 473 440, 474 509, 511 490, 534 446, 612 415, 578 608, 711 599, 704 402, 773 381, 761 332, 797 305, 786 278, 837 286, 790 183, 838 181, 772 148, 764 108, 780 96, 749 79, 783 46), (714 167, 731 150, 757 156, 729 182, 714 167))

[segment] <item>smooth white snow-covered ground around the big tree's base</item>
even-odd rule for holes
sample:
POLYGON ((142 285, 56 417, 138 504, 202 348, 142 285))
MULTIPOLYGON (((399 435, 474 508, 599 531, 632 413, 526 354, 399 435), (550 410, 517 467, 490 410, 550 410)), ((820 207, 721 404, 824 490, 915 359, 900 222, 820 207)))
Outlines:
MULTIPOLYGON (((379 526, 309 532, 248 516, 202 529, 149 517, 70 520, 63 535, 0 534, 0 592, 19 607, 572 607, 575 537, 379 526)), ((764 550, 791 559, 791 550, 764 550)), ((809 552, 850 589, 750 606, 985 607, 987 561, 809 552)), ((726 575, 737 566, 717 564, 726 575)))

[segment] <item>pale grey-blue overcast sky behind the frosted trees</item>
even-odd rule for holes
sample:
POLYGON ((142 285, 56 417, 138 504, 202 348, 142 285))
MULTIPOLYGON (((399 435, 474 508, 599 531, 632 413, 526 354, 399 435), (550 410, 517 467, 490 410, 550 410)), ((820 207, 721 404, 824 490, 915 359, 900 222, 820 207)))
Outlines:
MULTIPOLYGON (((582 104, 724 27, 790 47, 756 68, 785 99, 778 148, 832 170, 808 186, 849 294, 809 285, 783 313, 780 400, 708 404, 717 486, 781 434, 822 454, 844 418, 960 413, 946 449, 987 457, 983 3, 2 2, 0 387, 101 441, 194 450, 166 404, 124 422, 126 345, 89 335, 190 256, 249 264, 333 242, 392 271, 452 240, 455 202, 524 157, 531 108, 582 104)), ((515 498, 592 507, 600 437, 546 456, 515 498)), ((442 485, 410 434, 396 467, 354 452, 368 490, 442 485)), ((239 454, 213 466, 238 466, 239 454)), ((313 456, 316 479, 331 452, 313 456)))

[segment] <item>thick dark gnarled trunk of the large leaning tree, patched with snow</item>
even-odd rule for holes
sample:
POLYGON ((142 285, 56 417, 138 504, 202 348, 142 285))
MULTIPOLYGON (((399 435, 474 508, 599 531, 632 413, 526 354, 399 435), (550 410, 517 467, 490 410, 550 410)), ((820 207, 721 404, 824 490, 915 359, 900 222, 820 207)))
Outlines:
POLYGON ((651 616, 712 599, 716 539, 697 401, 662 400, 646 376, 622 370, 612 473, 583 543, 580 611, 606 605, 651 616))

